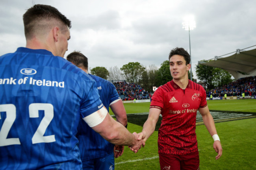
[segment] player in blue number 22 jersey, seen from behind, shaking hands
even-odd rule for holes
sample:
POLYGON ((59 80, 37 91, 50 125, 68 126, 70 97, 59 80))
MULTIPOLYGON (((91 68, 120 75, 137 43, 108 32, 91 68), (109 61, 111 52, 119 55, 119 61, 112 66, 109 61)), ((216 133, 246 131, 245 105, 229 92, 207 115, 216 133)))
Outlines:
POLYGON ((82 169, 80 116, 108 141, 138 150, 137 133, 109 116, 96 82, 63 59, 70 20, 35 5, 23 21, 26 48, 0 57, 0 170, 82 169))

